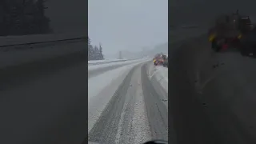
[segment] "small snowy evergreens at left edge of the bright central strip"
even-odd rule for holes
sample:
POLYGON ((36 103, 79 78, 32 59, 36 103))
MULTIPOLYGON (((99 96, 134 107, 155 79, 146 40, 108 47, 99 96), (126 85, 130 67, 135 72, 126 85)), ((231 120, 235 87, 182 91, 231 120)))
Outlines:
POLYGON ((92 46, 90 38, 88 39, 88 60, 103 60, 102 45, 92 46))

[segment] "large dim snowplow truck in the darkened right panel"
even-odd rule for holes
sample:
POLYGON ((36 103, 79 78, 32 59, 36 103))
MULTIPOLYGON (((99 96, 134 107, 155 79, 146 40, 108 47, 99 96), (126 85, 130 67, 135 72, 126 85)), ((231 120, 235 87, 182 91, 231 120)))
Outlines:
POLYGON ((215 52, 238 47, 240 38, 252 30, 249 16, 242 17, 238 10, 234 14, 220 15, 208 31, 208 40, 215 52))

